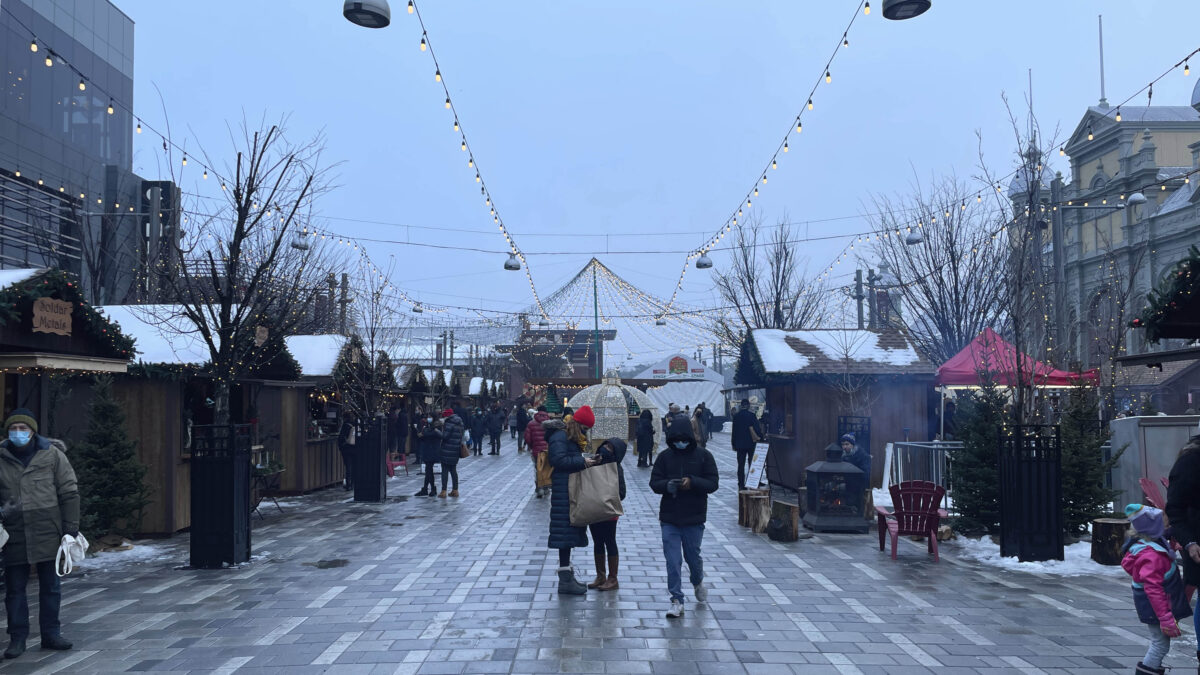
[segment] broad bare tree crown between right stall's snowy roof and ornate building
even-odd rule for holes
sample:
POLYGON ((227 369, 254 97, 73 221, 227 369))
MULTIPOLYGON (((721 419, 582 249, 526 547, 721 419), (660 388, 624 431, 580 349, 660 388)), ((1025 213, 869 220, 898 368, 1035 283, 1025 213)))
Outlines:
POLYGON ((875 197, 874 250, 896 277, 902 309, 895 321, 908 340, 941 364, 984 328, 1003 319, 1007 244, 997 237, 1004 211, 982 204, 954 178, 910 195, 875 197))

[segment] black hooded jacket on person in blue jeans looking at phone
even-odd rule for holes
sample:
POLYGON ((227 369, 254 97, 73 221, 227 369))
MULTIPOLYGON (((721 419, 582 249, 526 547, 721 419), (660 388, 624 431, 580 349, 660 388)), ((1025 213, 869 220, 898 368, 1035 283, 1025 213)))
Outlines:
POLYGON ((650 470, 650 490, 662 495, 659 520, 668 525, 702 525, 708 520, 708 495, 716 491, 720 477, 713 454, 701 448, 691 432, 691 422, 679 417, 667 429, 667 448, 659 453, 650 470), (685 438, 685 449, 678 449, 672 441, 685 438), (674 495, 667 491, 672 478, 690 478, 691 489, 674 495))

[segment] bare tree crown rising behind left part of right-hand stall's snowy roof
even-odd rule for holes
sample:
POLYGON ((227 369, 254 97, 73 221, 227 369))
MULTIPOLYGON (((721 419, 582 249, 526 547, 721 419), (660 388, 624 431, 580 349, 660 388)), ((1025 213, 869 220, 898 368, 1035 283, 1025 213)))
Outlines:
POLYGON ((728 347, 738 348, 755 328, 818 328, 828 303, 824 280, 806 275, 792 227, 781 222, 769 237, 762 231, 761 220, 749 219, 738 231, 730 270, 714 279, 730 309, 713 321, 713 331, 728 347))

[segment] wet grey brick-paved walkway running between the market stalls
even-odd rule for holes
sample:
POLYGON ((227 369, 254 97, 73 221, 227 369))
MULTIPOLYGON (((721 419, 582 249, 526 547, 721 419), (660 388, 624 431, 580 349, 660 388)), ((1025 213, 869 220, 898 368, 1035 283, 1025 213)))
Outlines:
MULTIPOLYGON (((172 562, 72 577, 65 634, 5 673, 1130 673, 1144 652, 1128 583, 1003 573, 869 536, 779 544, 737 525, 727 435, 704 537, 709 602, 667 620, 649 470, 626 465, 622 587, 559 598, 548 503, 505 438, 460 465, 463 496, 347 503, 341 490, 257 516, 256 561, 172 562), (344 561, 318 566, 318 561, 344 561)), ((408 496, 420 478, 389 483, 408 496)), ((577 549, 584 577, 590 549, 577 549)), ((686 585, 685 585, 686 586, 686 585)), ((690 596, 690 592, 689 592, 690 596)), ((31 603, 36 607, 36 602, 31 603)), ((36 619, 34 626, 36 626, 36 619)), ((1169 664, 1195 668, 1190 622, 1169 664), (1188 643, 1188 644, 1183 644, 1188 643)))

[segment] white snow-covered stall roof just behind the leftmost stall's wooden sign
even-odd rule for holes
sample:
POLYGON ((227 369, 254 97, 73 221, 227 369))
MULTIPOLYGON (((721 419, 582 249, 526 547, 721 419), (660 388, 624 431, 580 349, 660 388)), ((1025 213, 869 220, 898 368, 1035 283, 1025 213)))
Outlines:
POLYGON ((103 305, 96 307, 133 338, 137 360, 170 365, 204 365, 209 347, 196 324, 175 305, 103 305))

